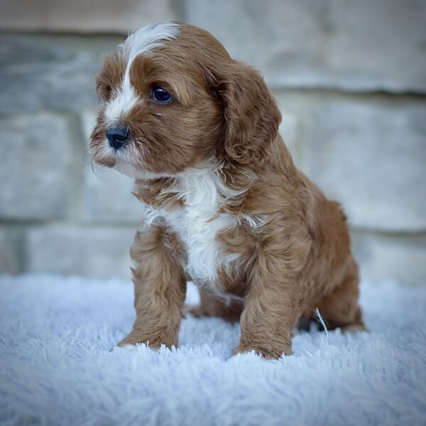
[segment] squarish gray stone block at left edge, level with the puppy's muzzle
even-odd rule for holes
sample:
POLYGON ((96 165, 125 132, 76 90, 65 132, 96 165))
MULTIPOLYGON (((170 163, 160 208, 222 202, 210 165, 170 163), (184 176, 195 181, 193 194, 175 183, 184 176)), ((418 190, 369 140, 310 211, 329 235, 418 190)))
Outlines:
POLYGON ((53 114, 0 120, 0 218, 67 217, 72 146, 67 121, 53 114))

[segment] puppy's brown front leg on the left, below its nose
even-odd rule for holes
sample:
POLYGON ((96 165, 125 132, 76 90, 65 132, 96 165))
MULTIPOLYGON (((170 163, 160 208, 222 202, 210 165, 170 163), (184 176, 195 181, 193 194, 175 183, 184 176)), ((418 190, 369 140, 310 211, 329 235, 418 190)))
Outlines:
POLYGON ((136 320, 131 333, 119 346, 149 342, 178 345, 178 332, 185 301, 184 253, 178 237, 164 224, 153 224, 135 236, 131 258, 136 320))

